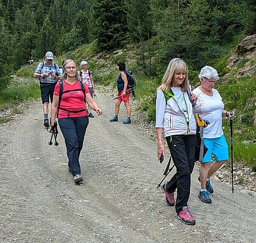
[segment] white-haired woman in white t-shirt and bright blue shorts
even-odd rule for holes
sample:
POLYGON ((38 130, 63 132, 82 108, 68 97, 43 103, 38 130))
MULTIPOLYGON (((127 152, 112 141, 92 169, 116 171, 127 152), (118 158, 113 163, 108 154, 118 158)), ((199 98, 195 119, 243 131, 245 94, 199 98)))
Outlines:
POLYGON ((205 66, 198 75, 201 85, 193 90, 193 94, 198 96, 196 101, 196 113, 209 125, 204 128, 204 144, 208 151, 200 163, 198 179, 201 189, 198 198, 204 203, 211 203, 209 193, 213 193, 210 178, 221 165, 228 159, 228 145, 223 135, 222 118, 234 119, 234 112, 224 110, 224 104, 219 92, 214 89, 216 80, 219 79, 218 72, 211 66, 205 66), (212 154, 215 159, 212 161, 212 154), (211 166, 210 166, 211 163, 211 166))

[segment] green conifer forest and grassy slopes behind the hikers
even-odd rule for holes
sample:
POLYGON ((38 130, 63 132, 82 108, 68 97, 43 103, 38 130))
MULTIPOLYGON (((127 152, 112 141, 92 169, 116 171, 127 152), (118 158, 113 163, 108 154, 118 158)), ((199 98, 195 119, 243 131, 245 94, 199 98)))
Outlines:
MULTIPOLYGON (((12 75, 32 77, 51 51, 59 65, 67 58, 89 61, 104 85, 115 85, 115 63, 125 61, 138 83, 137 108, 154 121, 156 88, 170 59, 180 57, 192 85, 206 64, 218 70, 216 88, 225 108, 236 110, 235 158, 256 170, 255 72, 223 78, 232 74, 227 60, 237 44, 256 33, 254 0, 0 0, 0 23, 1 110, 40 96, 35 83, 12 85, 12 75), (28 66, 28 59, 35 64, 28 66)), ((236 69, 253 60, 241 60, 236 69)), ((228 121, 223 128, 228 137, 228 121)))

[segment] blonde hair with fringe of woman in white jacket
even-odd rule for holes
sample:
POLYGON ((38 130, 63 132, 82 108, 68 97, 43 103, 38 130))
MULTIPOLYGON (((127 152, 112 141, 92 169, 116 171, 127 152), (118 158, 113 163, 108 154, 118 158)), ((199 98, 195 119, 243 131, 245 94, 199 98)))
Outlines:
POLYGON ((180 58, 173 58, 170 63, 168 64, 168 67, 164 73, 164 77, 162 78, 162 83, 159 86, 159 89, 162 91, 167 91, 169 92, 170 89, 173 87, 173 75, 175 72, 182 72, 186 73, 186 77, 184 82, 181 84, 181 90, 182 91, 188 91, 188 66, 186 63, 180 59, 180 58))

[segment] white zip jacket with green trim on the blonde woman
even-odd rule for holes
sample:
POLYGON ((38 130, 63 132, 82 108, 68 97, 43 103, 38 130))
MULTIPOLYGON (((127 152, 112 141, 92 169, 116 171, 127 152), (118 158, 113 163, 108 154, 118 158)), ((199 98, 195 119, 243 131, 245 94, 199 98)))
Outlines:
POLYGON ((164 137, 172 135, 195 135, 196 122, 193 114, 191 101, 188 93, 182 92, 180 88, 172 88, 174 96, 168 99, 164 97, 163 91, 157 90, 156 97, 156 128, 163 128, 164 137), (184 108, 181 108, 177 96, 183 96, 186 110, 188 112, 188 122, 184 114, 184 108))

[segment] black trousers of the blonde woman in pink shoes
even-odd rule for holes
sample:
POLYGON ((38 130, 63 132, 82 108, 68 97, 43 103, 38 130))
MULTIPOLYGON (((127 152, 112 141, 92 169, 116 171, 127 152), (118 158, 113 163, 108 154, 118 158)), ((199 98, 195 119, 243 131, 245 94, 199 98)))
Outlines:
POLYGON ((166 137, 177 172, 166 184, 166 191, 172 193, 177 189, 176 212, 188 206, 191 173, 195 165, 195 135, 173 135, 166 137))

